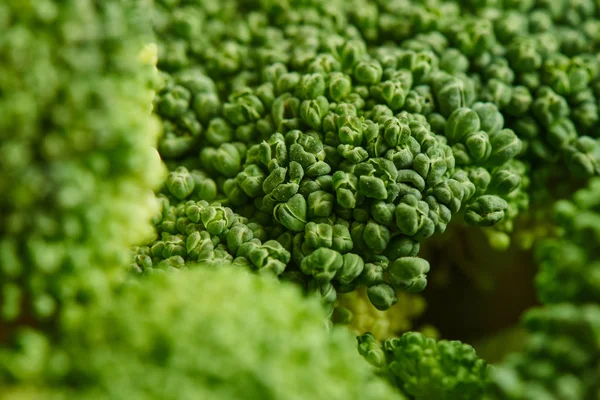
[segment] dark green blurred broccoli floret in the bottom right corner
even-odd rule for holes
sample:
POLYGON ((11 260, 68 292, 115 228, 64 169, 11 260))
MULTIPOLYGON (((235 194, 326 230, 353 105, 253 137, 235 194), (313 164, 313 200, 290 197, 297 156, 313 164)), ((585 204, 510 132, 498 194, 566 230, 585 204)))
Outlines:
POLYGON ((525 349, 491 375, 486 399, 592 399, 598 395, 600 307, 553 304, 524 317, 525 349))

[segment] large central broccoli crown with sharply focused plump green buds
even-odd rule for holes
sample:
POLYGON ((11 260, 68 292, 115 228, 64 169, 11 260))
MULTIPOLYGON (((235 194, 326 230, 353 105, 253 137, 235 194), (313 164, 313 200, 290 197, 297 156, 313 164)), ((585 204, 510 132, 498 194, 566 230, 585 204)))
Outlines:
MULTIPOLYGON (((450 61, 442 54, 449 26, 432 22, 419 41, 392 47, 363 36, 342 2, 339 10, 250 2, 245 16, 228 4, 155 11, 159 151, 171 170, 163 188, 171 207, 231 208, 256 227, 238 227, 253 232, 237 235, 240 243, 279 243, 291 257, 269 269, 330 307, 357 287, 380 310, 398 301, 397 291, 423 290, 430 266, 419 243, 453 216, 512 229, 528 204, 528 165, 516 159, 522 141, 493 99, 478 99, 480 79, 450 68, 462 53, 450 61), (211 23, 217 8, 223 15, 211 23), (191 39, 199 32, 202 45, 191 39)), ((456 18, 450 12, 448 22, 456 18)), ((171 231, 137 249, 137 269, 195 261, 194 249, 166 244, 187 240, 181 215, 157 218, 159 231, 171 231)), ((245 246, 221 244, 219 258, 263 268, 241 253, 245 246)))

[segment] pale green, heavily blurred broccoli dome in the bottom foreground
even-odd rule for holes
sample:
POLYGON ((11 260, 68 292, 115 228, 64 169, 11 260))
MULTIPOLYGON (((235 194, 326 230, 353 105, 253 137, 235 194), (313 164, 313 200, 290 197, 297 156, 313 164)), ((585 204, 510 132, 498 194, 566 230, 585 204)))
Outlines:
MULTIPOLYGON (((86 399, 398 398, 348 351, 349 332, 328 331, 316 299, 273 277, 155 272, 87 311, 64 324, 41 388, 86 399)), ((50 350, 31 335, 36 357, 50 350)))

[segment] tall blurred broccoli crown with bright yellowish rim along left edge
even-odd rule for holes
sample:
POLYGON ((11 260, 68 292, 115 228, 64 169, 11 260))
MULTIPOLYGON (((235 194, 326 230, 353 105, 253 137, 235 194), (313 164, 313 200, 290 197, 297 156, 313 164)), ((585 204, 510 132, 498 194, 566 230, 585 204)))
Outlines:
POLYGON ((151 235, 148 29, 121 3, 0 5, 0 342, 51 323, 78 296, 69 275, 114 270, 151 235))

